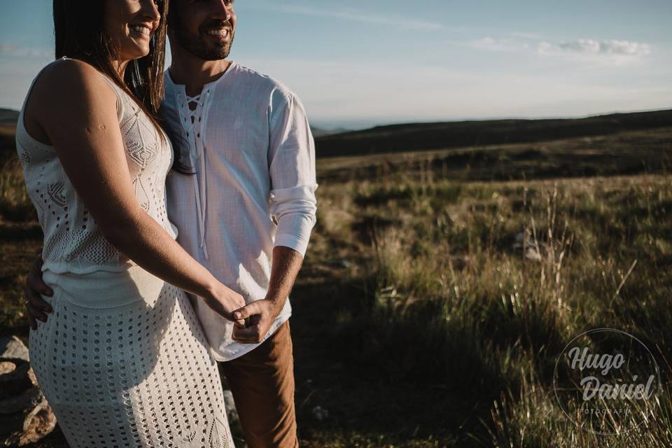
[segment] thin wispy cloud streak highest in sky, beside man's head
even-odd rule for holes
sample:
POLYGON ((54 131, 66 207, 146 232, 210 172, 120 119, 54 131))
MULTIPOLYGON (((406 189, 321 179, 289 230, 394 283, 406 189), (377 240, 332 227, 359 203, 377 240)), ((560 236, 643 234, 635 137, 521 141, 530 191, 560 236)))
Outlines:
POLYGON ((361 11, 348 9, 323 9, 312 8, 310 6, 297 6, 288 4, 261 4, 256 5, 257 8, 265 10, 275 10, 282 13, 293 13, 300 15, 310 15, 314 17, 335 18, 340 20, 348 20, 350 22, 363 22, 371 25, 393 25, 400 29, 416 30, 416 31, 436 31, 444 29, 444 26, 437 22, 428 22, 425 20, 409 20, 408 18, 393 17, 380 14, 367 14, 361 11))

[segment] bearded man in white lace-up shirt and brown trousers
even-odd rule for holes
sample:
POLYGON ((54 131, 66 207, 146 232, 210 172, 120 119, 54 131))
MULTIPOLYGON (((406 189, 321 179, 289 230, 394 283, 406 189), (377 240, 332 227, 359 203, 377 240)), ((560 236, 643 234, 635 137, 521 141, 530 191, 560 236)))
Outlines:
MULTIPOLYGON (((193 304, 248 445, 296 447, 288 294, 315 223, 314 143, 290 90, 226 59, 232 3, 171 3, 162 118, 180 172, 167 179, 168 216, 190 255, 246 300, 235 311, 245 327, 193 304)), ((39 276, 36 265, 26 291, 31 326, 49 308, 39 276)))

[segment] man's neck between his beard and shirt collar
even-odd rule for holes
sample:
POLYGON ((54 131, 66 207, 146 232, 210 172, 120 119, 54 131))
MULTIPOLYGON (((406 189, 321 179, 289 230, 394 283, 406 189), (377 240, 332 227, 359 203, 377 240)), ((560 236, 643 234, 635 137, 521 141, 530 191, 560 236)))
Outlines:
POLYGON ((203 86, 220 78, 231 65, 226 59, 206 61, 194 55, 172 54, 169 67, 170 77, 176 84, 185 86, 186 94, 193 97, 203 90, 203 86))

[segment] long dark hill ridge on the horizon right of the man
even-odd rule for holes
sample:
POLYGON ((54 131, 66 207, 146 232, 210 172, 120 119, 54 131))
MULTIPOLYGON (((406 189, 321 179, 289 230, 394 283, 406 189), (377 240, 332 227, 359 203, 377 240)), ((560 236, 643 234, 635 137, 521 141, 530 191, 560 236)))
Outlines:
POLYGON ((377 126, 316 137, 317 157, 591 137, 672 126, 672 110, 550 120, 474 120, 377 126))

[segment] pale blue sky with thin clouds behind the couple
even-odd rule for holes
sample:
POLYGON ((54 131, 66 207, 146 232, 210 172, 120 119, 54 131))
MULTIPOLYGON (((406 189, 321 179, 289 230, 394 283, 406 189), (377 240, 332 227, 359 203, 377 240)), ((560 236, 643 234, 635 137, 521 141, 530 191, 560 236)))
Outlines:
MULTIPOLYGON (((672 109, 670 0, 234 4, 230 59, 290 87, 317 127, 672 109)), ((20 109, 52 59, 51 12, 0 0, 0 107, 20 109)))

